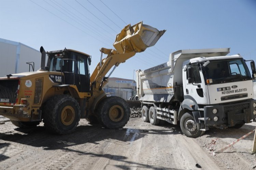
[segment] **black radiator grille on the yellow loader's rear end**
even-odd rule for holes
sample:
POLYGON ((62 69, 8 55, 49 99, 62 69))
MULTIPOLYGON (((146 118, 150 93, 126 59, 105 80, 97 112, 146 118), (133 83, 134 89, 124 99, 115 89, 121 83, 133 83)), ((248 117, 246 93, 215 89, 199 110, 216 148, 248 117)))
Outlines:
POLYGON ((19 80, 0 80, 0 102, 16 103, 19 80))

